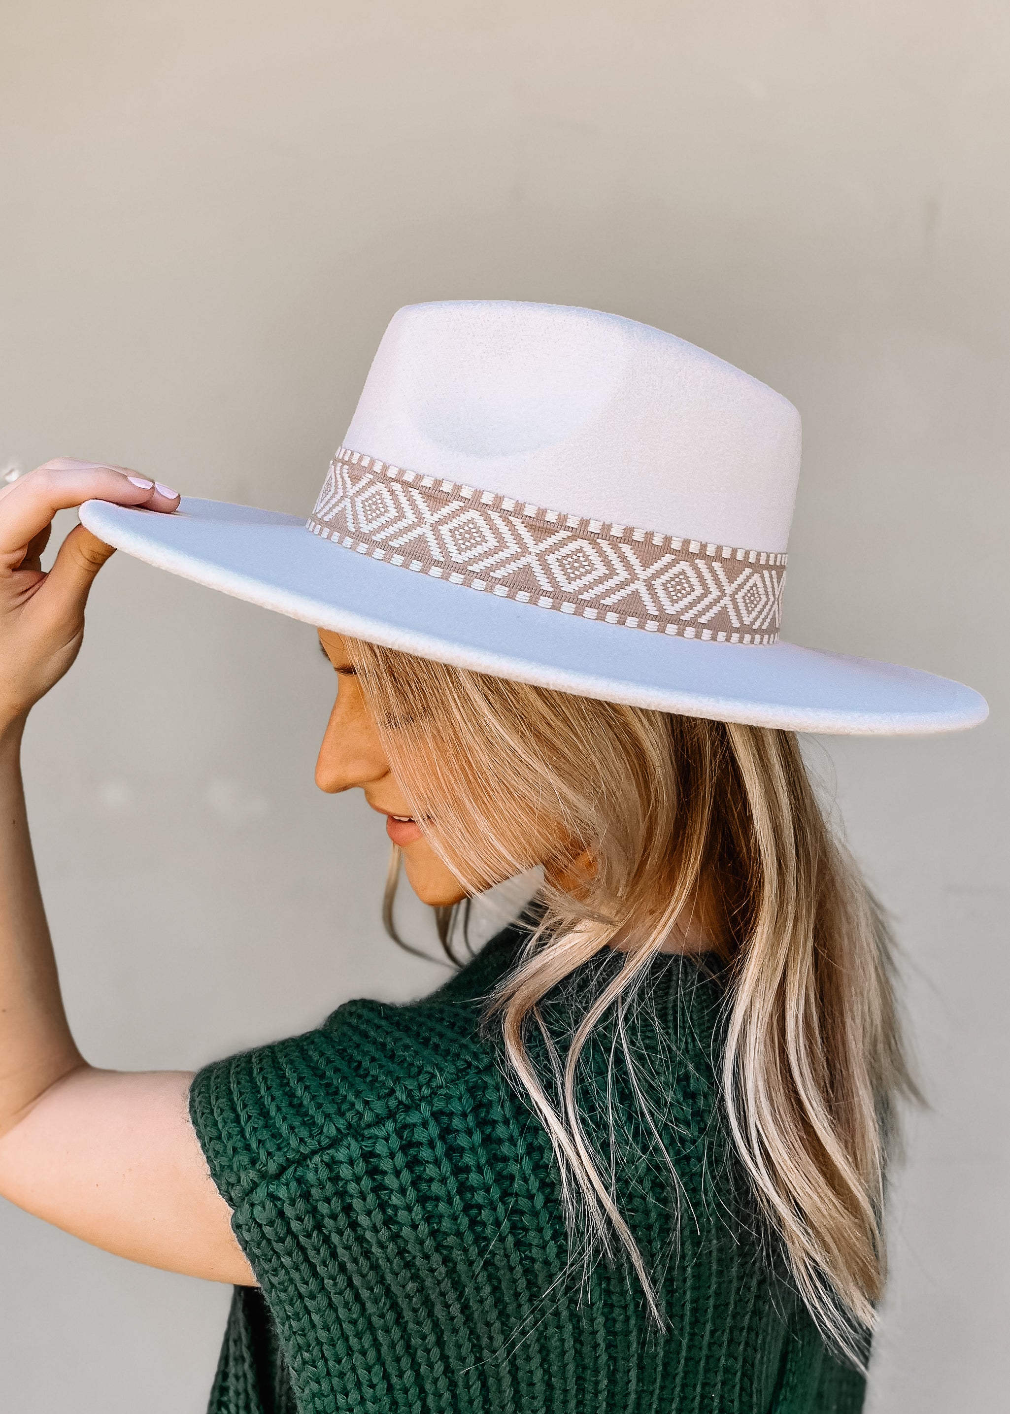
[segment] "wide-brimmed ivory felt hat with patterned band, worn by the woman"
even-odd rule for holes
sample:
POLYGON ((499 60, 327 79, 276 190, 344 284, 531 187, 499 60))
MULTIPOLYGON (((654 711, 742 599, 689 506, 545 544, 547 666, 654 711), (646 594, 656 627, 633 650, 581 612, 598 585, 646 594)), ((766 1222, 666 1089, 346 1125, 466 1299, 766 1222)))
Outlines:
POLYGON ((109 544, 320 628, 610 701, 818 732, 952 731, 970 687, 781 642, 799 414, 671 334, 407 305, 308 520, 89 501, 109 544))

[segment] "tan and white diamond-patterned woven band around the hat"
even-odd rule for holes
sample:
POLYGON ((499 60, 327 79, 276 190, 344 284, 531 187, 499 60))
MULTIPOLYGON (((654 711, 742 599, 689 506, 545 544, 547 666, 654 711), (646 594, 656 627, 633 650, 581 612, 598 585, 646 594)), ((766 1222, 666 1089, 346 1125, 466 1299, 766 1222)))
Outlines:
POLYGON ((625 628, 778 638, 785 554, 588 520, 341 447, 307 529, 373 560, 625 628))

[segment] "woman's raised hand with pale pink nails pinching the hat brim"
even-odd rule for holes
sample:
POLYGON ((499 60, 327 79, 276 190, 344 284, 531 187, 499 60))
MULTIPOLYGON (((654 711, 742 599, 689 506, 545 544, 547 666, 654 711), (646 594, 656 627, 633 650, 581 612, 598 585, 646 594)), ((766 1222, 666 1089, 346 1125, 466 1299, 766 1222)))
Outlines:
POLYGON ((83 501, 175 510, 178 492, 126 467, 59 457, 0 491, 0 731, 23 720, 78 656, 83 611, 112 546, 76 526, 42 571, 57 510, 83 501))

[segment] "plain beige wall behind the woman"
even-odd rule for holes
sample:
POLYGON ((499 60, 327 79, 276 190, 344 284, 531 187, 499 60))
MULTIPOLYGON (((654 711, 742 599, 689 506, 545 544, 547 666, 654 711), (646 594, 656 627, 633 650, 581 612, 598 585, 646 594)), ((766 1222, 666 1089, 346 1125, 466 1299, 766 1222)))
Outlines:
MULTIPOLYGON (((3 0, 0 62, 0 471, 100 457, 304 512, 386 320, 430 298, 614 310, 798 404, 786 635, 993 706, 823 764, 932 1103, 871 1408, 1004 1408, 1006 4, 3 0)), ((313 788, 311 639, 103 571, 27 747, 96 1063, 195 1066, 434 980, 381 936, 381 823, 313 788)), ((225 1305, 3 1206, 0 1407, 197 1414, 225 1305)))

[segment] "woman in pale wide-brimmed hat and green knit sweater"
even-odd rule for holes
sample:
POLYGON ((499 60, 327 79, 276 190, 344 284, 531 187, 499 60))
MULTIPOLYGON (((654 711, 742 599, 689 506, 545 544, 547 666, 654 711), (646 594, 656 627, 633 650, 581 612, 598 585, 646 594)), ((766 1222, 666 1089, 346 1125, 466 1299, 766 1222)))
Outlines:
POLYGON ((395 317, 310 534, 106 465, 1 493, 0 1192, 235 1284, 212 1410, 861 1407, 910 1082, 794 732, 986 708, 777 641, 798 467, 795 409, 700 349, 467 303, 395 317), (523 916, 414 1005, 88 1066, 18 742, 112 546, 318 625, 318 785, 386 814, 450 950, 539 865, 523 916))

